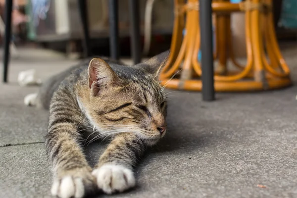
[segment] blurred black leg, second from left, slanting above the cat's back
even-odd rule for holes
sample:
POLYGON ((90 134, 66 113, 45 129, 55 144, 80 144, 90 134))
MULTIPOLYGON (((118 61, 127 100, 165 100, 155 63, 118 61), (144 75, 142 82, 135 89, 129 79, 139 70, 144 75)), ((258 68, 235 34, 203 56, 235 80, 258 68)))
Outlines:
POLYGON ((78 0, 79 11, 81 15, 81 22, 83 26, 83 47, 84 47, 84 55, 86 57, 91 56, 90 49, 90 33, 89 33, 89 20, 88 20, 88 11, 87 11, 87 0, 78 0))

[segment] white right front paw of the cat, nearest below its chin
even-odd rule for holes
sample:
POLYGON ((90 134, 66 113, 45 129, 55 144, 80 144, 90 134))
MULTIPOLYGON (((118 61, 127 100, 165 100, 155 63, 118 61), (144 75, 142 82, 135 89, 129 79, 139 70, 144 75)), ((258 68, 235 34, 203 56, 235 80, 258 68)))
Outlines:
POLYGON ((97 185, 104 193, 123 192, 135 186, 132 170, 121 166, 106 164, 95 169, 92 174, 97 178, 97 185))

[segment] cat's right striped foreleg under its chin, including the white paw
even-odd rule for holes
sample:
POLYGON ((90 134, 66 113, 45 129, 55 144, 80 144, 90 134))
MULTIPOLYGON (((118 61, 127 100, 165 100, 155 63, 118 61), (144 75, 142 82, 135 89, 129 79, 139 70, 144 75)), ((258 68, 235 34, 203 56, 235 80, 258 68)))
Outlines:
POLYGON ((144 144, 135 134, 117 135, 101 155, 92 172, 97 178, 99 189, 106 194, 112 194, 134 187, 133 166, 144 150, 144 144))

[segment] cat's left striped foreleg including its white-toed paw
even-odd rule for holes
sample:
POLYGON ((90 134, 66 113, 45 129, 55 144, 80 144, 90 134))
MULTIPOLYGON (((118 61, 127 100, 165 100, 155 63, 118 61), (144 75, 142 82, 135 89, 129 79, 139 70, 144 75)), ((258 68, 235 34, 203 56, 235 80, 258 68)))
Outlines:
POLYGON ((77 128, 71 123, 49 125, 46 147, 53 163, 51 194, 58 198, 83 198, 97 189, 78 136, 77 128))

